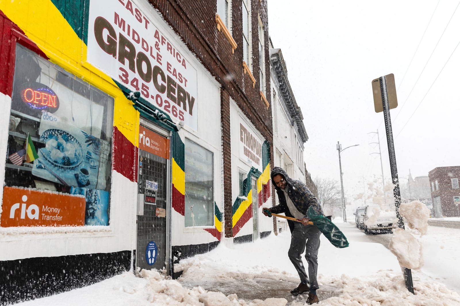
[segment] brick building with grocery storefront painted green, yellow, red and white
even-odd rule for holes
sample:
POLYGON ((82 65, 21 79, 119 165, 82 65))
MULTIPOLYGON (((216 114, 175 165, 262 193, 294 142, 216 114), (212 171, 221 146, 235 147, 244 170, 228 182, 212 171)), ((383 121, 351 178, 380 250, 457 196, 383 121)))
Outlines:
POLYGON ((266 0, 1 1, 0 24, 1 304, 270 234, 266 0))

